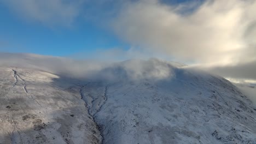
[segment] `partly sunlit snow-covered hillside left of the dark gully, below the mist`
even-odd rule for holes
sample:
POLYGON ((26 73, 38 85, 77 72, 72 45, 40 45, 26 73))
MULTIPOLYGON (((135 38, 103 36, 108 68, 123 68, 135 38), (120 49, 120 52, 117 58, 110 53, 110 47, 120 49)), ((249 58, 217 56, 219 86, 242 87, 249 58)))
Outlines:
POLYGON ((20 68, 2 67, 0 74, 0 143, 101 142, 79 83, 20 68))

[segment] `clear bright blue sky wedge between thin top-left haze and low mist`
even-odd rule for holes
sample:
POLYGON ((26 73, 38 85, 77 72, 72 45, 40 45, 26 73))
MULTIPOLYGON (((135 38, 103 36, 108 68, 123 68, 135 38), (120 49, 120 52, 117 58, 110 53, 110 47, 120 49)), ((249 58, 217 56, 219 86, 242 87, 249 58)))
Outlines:
POLYGON ((0 51, 25 52, 40 55, 69 56, 96 49, 129 45, 107 29, 83 18, 72 26, 47 26, 23 19, 6 5, 0 4, 0 51))

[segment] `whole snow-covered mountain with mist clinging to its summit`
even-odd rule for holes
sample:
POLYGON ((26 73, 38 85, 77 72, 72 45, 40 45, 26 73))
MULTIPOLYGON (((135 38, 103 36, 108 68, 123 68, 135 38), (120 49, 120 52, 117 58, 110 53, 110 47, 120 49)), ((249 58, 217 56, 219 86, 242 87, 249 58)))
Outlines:
POLYGON ((0 143, 256 143, 255 105, 205 71, 1 55, 0 143))

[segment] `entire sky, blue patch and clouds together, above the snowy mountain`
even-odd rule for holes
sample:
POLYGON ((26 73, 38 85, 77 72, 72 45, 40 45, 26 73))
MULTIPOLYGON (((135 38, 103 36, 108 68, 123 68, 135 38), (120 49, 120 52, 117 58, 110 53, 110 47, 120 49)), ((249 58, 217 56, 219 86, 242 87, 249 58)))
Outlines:
POLYGON ((3 0, 0 51, 156 57, 256 79, 255 0, 3 0))

